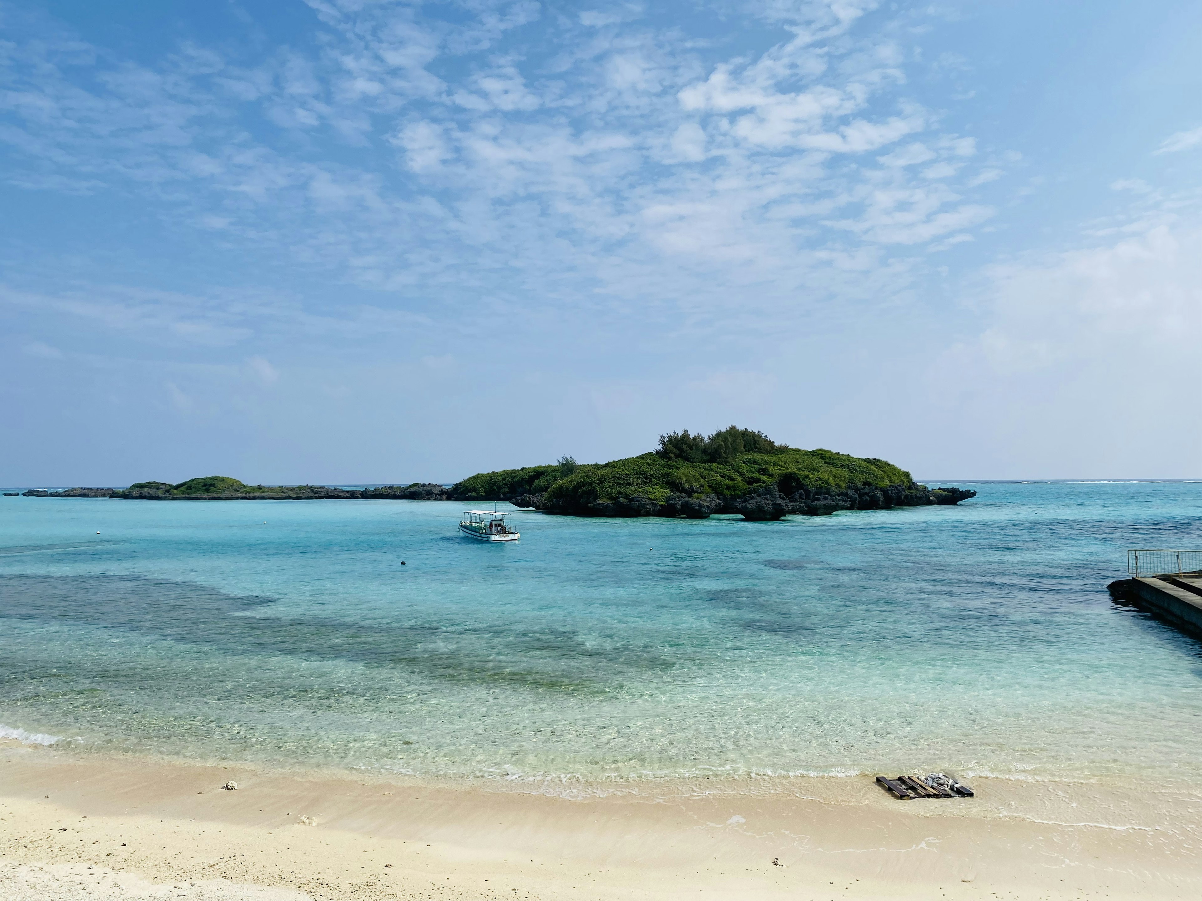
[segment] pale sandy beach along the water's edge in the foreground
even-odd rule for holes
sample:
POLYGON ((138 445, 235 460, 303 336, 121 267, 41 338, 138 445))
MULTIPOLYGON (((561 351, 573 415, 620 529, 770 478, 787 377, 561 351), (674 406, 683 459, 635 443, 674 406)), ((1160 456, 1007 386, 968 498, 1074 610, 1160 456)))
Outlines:
POLYGON ((974 800, 897 801, 855 777, 572 799, 2 750, 8 899, 1202 894, 1196 799, 1171 792, 977 780, 974 800))

